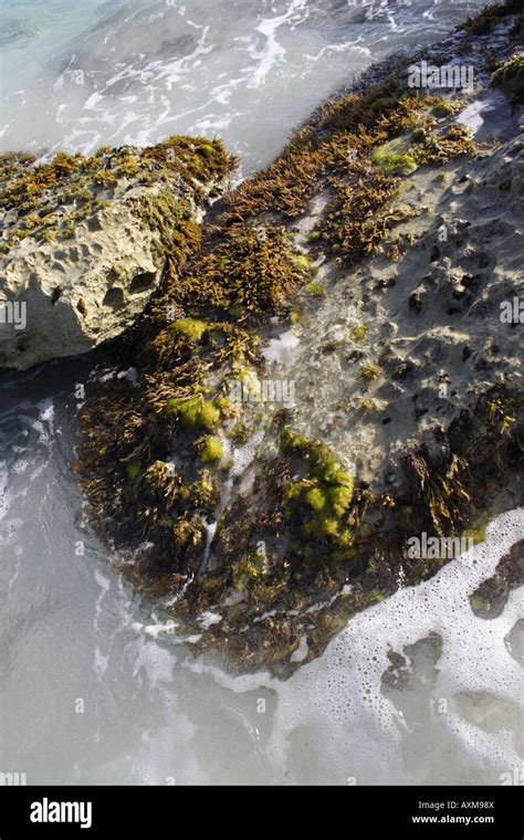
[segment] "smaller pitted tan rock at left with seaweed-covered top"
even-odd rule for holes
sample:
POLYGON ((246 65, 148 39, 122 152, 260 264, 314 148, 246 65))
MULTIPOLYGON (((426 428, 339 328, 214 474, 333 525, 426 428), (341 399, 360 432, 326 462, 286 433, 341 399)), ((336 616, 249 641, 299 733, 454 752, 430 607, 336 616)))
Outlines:
POLYGON ((199 242, 234 161, 172 137, 91 158, 0 157, 0 367, 27 369, 123 333, 199 242))

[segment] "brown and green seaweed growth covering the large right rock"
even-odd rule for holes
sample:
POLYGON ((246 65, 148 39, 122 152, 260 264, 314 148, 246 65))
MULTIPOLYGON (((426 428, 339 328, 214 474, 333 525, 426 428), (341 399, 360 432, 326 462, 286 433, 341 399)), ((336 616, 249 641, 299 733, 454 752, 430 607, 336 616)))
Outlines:
MULTIPOLYGON (((184 455, 192 452, 188 470, 198 471, 206 440, 222 443, 223 435, 238 445, 248 443, 253 428, 245 421, 243 408, 221 403, 218 395, 228 392, 231 380, 243 371, 258 371, 256 330, 275 313, 291 321, 294 293, 302 287, 307 291, 311 260, 300 259, 293 237, 285 230, 287 221, 308 209, 318 189, 328 188, 334 199, 326 218, 310 233, 308 243, 315 252, 322 245, 327 255, 352 265, 375 253, 395 223, 389 202, 406 176, 380 171, 374 154, 392 140, 400 140, 397 148, 401 146, 418 166, 440 166, 451 157, 474 154, 465 129, 437 128, 433 117, 452 116, 450 108, 436 97, 409 95, 398 80, 326 104, 295 133, 268 170, 243 182, 217 208, 198 253, 199 245, 188 249, 185 256, 177 252, 172 267, 168 265, 163 295, 153 305, 144 346, 137 343, 138 367, 147 374, 147 386, 135 389, 130 398, 129 390, 122 398, 112 395, 106 417, 98 414, 103 413, 102 400, 90 408, 90 417, 98 414, 91 427, 98 450, 103 449, 101 440, 107 442, 113 462, 109 468, 106 456, 99 455, 97 461, 87 451, 91 494, 99 510, 109 507, 115 516, 122 516, 111 508, 111 494, 119 486, 124 459, 133 452, 147 465, 165 460, 176 447, 184 455), (196 333, 188 327, 185 335, 184 328, 174 328, 177 321, 167 323, 168 305, 178 322, 207 323, 209 327, 196 333), (210 426, 203 420, 205 407, 209 407, 210 426), (228 426, 229 411, 237 413, 228 426), (107 431, 111 423, 118 426, 122 439, 107 431), (216 433, 202 439, 202 431, 216 433)), ((193 164, 197 180, 207 153, 198 155, 201 160, 193 164)), ((169 261, 167 238, 164 246, 169 261)), ((355 328, 353 340, 365 337, 361 327, 355 328)), ((140 333, 140 342, 143 336, 140 333)), ((367 371, 363 378, 369 381, 380 375, 380 368, 370 364, 363 369, 367 371)), ((364 390, 366 386, 360 387, 364 390)), ((378 410, 373 400, 363 400, 361 408, 378 410)), ((506 416, 513 418, 514 412, 504 410, 506 416)), ((366 418, 366 422, 375 419, 366 418)), ((281 418, 285 428, 279 454, 268 461, 256 456, 252 495, 234 498, 219 523, 213 554, 217 567, 191 585, 178 605, 177 616, 189 617, 188 627, 193 629, 191 619, 199 611, 220 603, 231 588, 242 592, 242 600, 226 610, 223 627, 202 634, 199 649, 219 650, 242 669, 269 664, 276 672, 286 672, 290 653, 304 632, 303 610, 319 595, 326 600, 337 596, 349 579, 355 589, 350 598, 338 599, 346 605, 344 609, 334 602, 329 610, 319 610, 315 626, 307 629, 308 658, 317 655, 348 615, 396 590, 398 558, 407 534, 425 528, 448 533, 468 522, 475 496, 484 493, 475 455, 486 441, 491 445, 501 438, 497 458, 500 453, 501 463, 506 464, 514 443, 516 421, 501 435, 500 412, 492 411, 492 421, 489 419, 490 409, 484 405, 474 444, 464 443, 463 430, 453 431, 452 444, 442 447, 446 455, 438 460, 426 452, 415 453, 404 464, 405 484, 398 493, 374 496, 357 485, 325 444, 292 432, 293 420, 281 418), (266 560, 256 554, 260 540, 266 560), (290 617, 293 610, 297 618, 290 617), (253 622, 253 616, 266 611, 274 615, 253 622)), ((186 476, 180 484, 179 477, 178 490, 172 485, 170 495, 170 485, 159 484, 155 501, 146 500, 140 508, 135 531, 124 517, 126 536, 130 528, 133 536, 147 535, 156 542, 155 585, 161 592, 179 591, 188 570, 200 568, 203 522, 212 521, 210 515, 217 510, 216 483, 221 472, 220 460, 210 458, 205 463, 210 475, 201 482, 186 476), (158 500, 159 490, 166 494, 165 501, 158 500)), ((132 486, 126 496, 130 512, 138 504, 138 491, 143 493, 142 483, 132 486)), ((153 574, 149 567, 147 570, 153 574)), ((434 567, 422 560, 407 565, 407 581, 418 582, 433 571, 434 567)))

